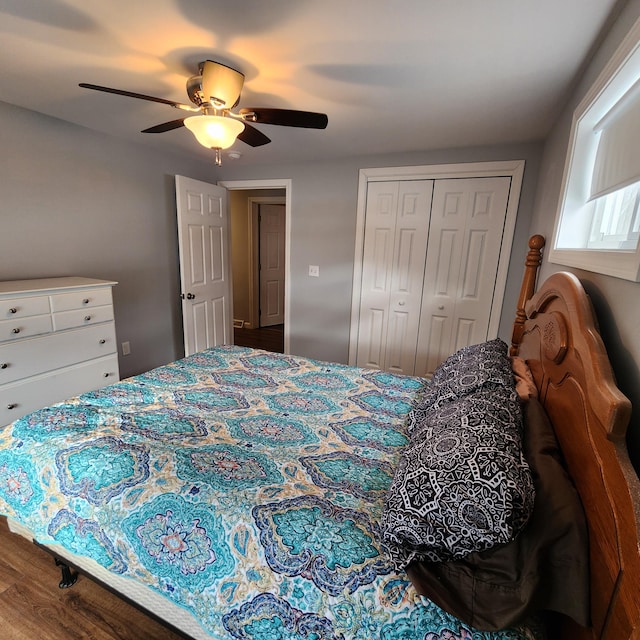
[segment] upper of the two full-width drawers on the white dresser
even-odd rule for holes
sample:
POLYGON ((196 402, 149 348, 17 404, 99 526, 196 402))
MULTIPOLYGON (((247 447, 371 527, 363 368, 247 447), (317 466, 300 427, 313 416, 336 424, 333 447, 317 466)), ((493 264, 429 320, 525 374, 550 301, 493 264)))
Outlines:
POLYGON ((0 386, 116 353, 113 322, 0 345, 0 386))

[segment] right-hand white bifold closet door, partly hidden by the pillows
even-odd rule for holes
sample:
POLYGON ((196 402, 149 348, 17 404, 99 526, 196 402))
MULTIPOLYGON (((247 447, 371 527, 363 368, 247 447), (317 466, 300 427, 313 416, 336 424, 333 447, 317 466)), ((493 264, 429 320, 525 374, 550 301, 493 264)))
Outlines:
POLYGON ((511 178, 437 180, 416 375, 487 339, 511 178))

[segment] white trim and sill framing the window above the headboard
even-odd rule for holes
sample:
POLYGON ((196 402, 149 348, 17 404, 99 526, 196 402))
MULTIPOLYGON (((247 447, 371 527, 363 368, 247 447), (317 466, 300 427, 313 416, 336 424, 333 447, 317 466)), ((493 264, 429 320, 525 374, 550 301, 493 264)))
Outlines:
POLYGON ((576 108, 569 138, 569 150, 562 178, 562 192, 553 231, 549 262, 605 275, 640 281, 640 244, 635 251, 557 248, 563 216, 583 206, 585 175, 593 166, 593 127, 638 79, 630 77, 632 64, 640 60, 640 19, 633 25, 611 60, 576 108), (629 63, 629 64, 628 64, 629 63))

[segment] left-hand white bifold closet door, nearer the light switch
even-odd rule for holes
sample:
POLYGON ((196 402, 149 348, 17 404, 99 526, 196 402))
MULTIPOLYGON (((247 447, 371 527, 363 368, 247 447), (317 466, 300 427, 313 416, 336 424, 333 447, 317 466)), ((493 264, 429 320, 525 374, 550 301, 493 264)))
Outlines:
POLYGON ((367 188, 356 364, 412 374, 433 180, 367 188))

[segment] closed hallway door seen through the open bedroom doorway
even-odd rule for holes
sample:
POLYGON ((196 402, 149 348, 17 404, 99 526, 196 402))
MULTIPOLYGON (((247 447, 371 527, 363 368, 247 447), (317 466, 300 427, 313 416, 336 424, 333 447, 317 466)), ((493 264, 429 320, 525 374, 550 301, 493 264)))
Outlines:
POLYGON ((283 204, 260 205, 260 326, 284 322, 283 204))

